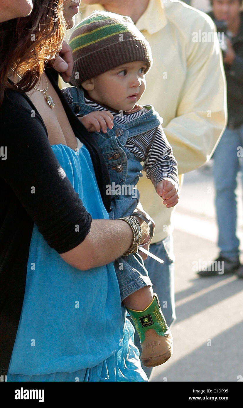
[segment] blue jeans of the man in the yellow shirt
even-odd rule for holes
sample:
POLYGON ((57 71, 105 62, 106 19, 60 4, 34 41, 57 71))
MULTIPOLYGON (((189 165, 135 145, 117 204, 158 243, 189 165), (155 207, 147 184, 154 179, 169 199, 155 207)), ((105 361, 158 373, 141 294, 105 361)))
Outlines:
MULTIPOLYGON (((148 257, 144 261, 144 264, 152 281, 153 291, 158 295, 162 313, 168 326, 170 326, 176 319, 174 285, 175 256, 172 235, 168 235, 168 237, 156 244, 151 244, 149 251, 164 261, 163 264, 160 264, 155 261, 155 259, 148 257)), ((141 345, 136 331, 134 342, 141 354, 141 345)), ((149 378, 152 368, 144 367, 143 364, 141 364, 141 366, 149 378)))

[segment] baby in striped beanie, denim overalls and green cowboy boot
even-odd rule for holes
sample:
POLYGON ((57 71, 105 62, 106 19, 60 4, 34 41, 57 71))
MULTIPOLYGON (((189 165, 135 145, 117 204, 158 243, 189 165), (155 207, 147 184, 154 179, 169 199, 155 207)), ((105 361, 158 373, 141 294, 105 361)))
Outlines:
MULTIPOLYGON (((129 17, 95 11, 71 35, 74 68, 71 88, 63 90, 73 111, 105 157, 110 174, 112 219, 131 215, 139 202, 135 186, 141 170, 166 207, 179 197, 177 162, 151 105, 141 106, 150 45, 129 17), (144 162, 144 165, 141 165, 144 162), (126 184, 123 184, 126 182, 126 184), (126 191, 122 188, 126 186, 126 191)), ((108 187, 108 186, 107 186, 108 187)), ((141 342, 141 361, 152 367, 172 355, 173 339, 139 254, 121 257, 115 270, 141 342)))

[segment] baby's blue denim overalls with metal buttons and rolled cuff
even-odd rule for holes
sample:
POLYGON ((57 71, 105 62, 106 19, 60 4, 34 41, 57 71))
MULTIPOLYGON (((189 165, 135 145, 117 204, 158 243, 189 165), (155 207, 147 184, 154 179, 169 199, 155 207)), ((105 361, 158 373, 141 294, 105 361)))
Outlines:
MULTIPOLYGON (((71 107, 75 114, 87 115, 95 111, 92 106, 84 103, 82 88, 71 87, 70 90, 73 97, 71 107)), ((156 132, 161 124, 161 119, 153 106, 144 107, 148 112, 142 117, 125 124, 119 124, 113 120, 113 129, 107 128, 107 133, 94 132, 97 144, 106 160, 111 180, 111 186, 106 186, 107 193, 111 193, 109 212, 111 220, 131 215, 139 202, 139 191, 135 186, 142 176, 143 166, 135 155, 126 149, 125 144, 128 137, 140 135, 151 129, 155 129, 156 132)), ((138 253, 116 259, 114 266, 121 300, 144 286, 152 286, 144 261, 138 253)))

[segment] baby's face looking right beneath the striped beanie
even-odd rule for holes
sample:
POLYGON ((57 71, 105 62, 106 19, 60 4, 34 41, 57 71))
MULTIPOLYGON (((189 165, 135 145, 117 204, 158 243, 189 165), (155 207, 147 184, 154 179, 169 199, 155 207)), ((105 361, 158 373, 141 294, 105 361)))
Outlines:
POLYGON ((93 78, 91 98, 117 111, 130 111, 146 88, 143 61, 128 62, 93 78))

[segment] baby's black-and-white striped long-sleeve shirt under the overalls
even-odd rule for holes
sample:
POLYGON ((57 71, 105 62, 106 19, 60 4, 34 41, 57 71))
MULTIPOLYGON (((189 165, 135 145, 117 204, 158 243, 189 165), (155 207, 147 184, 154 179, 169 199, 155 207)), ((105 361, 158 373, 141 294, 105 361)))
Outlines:
MULTIPOLYGON (((73 98, 70 88, 63 89, 62 92, 68 102, 72 104, 73 98)), ((86 97, 84 103, 92 106, 96 111, 107 110, 104 106, 86 97)), ((148 111, 143 106, 140 106, 139 109, 139 105, 137 105, 137 109, 124 112, 123 115, 113 110, 110 112, 118 124, 126 124, 137 118, 141 118, 142 121, 143 115, 148 111)), ((179 188, 177 161, 161 125, 140 135, 128 137, 125 147, 135 155, 139 162, 144 162, 143 170, 146 171, 146 176, 152 181, 155 188, 158 182, 168 179, 174 181, 179 188)))

